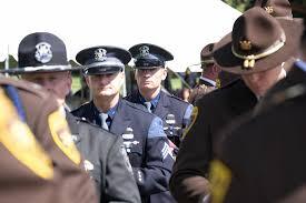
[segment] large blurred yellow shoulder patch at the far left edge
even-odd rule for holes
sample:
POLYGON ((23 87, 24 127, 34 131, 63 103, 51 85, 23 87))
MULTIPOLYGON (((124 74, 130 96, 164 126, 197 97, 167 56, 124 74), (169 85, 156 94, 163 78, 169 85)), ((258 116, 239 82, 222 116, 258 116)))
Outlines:
POLYGON ((24 166, 41 179, 53 177, 51 158, 37 142, 29 126, 19 120, 18 114, 0 90, 0 142, 24 166))

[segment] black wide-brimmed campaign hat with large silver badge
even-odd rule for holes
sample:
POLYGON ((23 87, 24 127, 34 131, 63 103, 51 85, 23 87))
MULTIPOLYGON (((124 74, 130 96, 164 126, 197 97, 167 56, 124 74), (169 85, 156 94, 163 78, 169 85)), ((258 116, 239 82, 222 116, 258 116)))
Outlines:
POLYGON ((2 70, 12 74, 72 71, 66 45, 57 35, 34 32, 24 37, 18 48, 18 68, 2 70))

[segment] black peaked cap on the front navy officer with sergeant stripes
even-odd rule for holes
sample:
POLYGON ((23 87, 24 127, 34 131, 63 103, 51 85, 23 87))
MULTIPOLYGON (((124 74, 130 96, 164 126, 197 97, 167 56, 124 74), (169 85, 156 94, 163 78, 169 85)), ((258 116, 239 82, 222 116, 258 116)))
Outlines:
POLYGON ((130 53, 121 48, 100 45, 81 50, 76 60, 85 67, 83 73, 107 74, 125 70, 130 53))

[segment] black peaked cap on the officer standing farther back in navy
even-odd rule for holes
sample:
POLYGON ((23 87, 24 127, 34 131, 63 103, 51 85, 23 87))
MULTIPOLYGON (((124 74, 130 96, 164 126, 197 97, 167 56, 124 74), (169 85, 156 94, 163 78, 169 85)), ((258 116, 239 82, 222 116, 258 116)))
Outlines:
POLYGON ((165 67, 166 61, 174 60, 174 55, 155 44, 139 43, 129 49, 132 58, 135 58, 135 68, 154 69, 156 67, 165 67))

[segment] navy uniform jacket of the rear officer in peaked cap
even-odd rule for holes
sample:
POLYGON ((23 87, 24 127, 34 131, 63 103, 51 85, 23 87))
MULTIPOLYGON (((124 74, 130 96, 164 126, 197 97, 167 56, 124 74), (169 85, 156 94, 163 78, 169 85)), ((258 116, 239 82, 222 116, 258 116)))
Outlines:
MULTIPOLYGON (((132 103, 144 104, 141 98, 139 92, 134 92, 126 99, 132 103)), ((164 121, 164 130, 167 136, 179 146, 182 131, 190 123, 193 105, 161 90, 159 101, 157 105, 152 108, 151 112, 164 121), (169 124, 169 114, 172 114, 175 118, 174 124, 169 124)))

